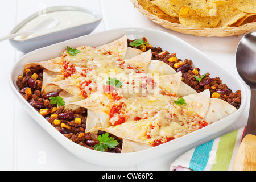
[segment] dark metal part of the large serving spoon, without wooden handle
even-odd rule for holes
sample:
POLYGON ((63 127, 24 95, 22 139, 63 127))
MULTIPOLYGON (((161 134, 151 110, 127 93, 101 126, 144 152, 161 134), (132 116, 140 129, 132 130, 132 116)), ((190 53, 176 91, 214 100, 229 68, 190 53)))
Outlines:
POLYGON ((236 67, 239 75, 251 90, 250 111, 245 135, 256 135, 256 32, 246 34, 240 40, 236 52, 236 67))

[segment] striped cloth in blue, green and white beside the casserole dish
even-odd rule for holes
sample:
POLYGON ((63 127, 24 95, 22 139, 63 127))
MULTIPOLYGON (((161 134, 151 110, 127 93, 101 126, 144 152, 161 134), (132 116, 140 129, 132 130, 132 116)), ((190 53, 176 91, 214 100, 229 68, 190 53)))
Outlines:
POLYGON ((170 167, 172 171, 231 171, 246 126, 185 152, 170 167))

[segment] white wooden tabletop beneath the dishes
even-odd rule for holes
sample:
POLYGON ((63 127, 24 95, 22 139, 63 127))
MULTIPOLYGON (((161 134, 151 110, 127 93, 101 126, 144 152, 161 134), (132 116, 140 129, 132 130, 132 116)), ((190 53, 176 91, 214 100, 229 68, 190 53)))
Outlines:
MULTIPOLYGON (((144 27, 155 28, 173 34, 203 51, 212 59, 228 68, 236 76, 235 53, 242 36, 228 38, 205 38, 180 34, 158 26, 144 17, 129 0, 9 0, 2 3, 0 11, 0 36, 9 34, 10 30, 27 16, 49 6, 81 6, 98 11, 103 20, 92 32, 101 32, 114 28, 144 27)), ((1 170, 168 170, 170 164, 185 151, 203 144, 229 131, 245 126, 249 113, 249 102, 241 117, 228 129, 192 144, 182 150, 173 152, 158 160, 126 168, 108 168, 85 162, 65 150, 42 127, 24 111, 14 97, 9 86, 9 72, 15 61, 23 53, 16 51, 9 41, 0 42, 0 169, 1 170)), ((221 74, 221 73, 220 73, 221 74)), ((249 88, 247 88, 250 100, 249 88)))

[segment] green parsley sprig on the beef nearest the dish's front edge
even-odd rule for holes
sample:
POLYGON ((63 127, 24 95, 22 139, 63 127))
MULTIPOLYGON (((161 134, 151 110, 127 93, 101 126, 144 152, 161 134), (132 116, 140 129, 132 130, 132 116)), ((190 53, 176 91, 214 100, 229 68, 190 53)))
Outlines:
POLYGON ((94 150, 105 152, 107 148, 114 148, 119 143, 117 140, 114 140, 114 137, 109 137, 108 133, 98 135, 98 141, 100 143, 94 146, 94 150))

